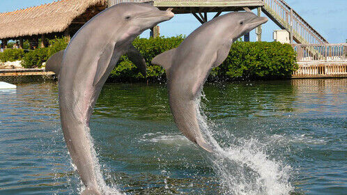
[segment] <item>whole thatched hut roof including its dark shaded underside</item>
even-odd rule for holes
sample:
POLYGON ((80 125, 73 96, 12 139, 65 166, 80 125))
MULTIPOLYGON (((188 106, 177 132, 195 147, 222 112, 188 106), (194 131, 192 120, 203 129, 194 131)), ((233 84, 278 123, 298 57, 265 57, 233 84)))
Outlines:
POLYGON ((3 47, 7 40, 30 40, 35 44, 41 38, 72 36, 91 17, 107 8, 107 0, 61 0, 41 6, 0 13, 0 39, 3 47))

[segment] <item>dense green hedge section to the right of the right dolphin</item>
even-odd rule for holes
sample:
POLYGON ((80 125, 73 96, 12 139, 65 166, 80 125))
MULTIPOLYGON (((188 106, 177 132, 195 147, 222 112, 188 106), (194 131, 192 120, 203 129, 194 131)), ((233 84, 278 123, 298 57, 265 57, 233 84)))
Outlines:
POLYGON ((235 42, 229 56, 217 68, 217 76, 250 79, 290 77, 298 67, 296 54, 280 42, 235 42))

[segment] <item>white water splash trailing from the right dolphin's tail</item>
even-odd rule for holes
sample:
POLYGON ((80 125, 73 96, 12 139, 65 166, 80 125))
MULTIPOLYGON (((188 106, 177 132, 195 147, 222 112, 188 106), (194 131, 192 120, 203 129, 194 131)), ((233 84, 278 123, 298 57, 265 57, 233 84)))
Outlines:
POLYGON ((291 166, 285 165, 279 160, 270 159, 265 152, 268 147, 257 139, 236 139, 231 132, 222 131, 223 137, 234 139, 228 147, 222 147, 214 139, 217 134, 210 127, 203 113, 205 107, 201 103, 201 95, 196 98, 196 113, 199 127, 206 137, 206 141, 215 147, 216 153, 208 157, 213 164, 213 169, 219 177, 224 194, 289 194, 293 187, 288 182, 291 166))

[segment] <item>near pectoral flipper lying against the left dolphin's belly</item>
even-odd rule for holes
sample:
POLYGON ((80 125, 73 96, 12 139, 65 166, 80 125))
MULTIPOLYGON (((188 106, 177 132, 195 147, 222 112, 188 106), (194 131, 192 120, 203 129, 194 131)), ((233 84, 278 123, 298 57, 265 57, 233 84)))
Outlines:
POLYGON ((114 54, 114 45, 108 44, 107 47, 105 47, 104 52, 102 52, 98 60, 98 65, 97 65, 95 76, 94 76, 93 86, 98 84, 102 76, 105 75, 105 72, 107 68, 109 67, 109 63, 112 59, 113 54, 114 54))

